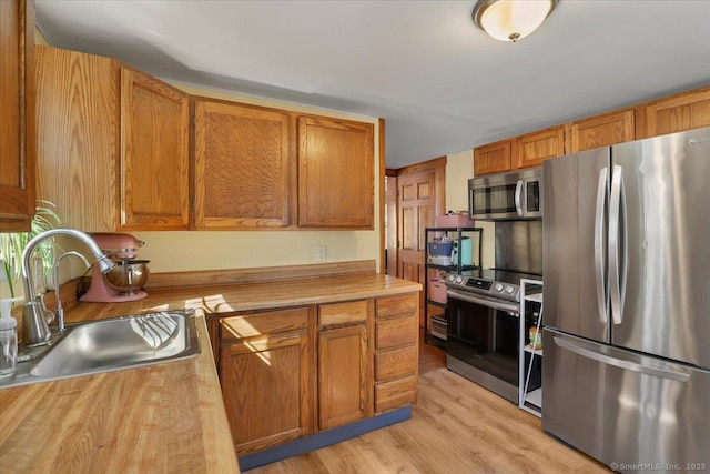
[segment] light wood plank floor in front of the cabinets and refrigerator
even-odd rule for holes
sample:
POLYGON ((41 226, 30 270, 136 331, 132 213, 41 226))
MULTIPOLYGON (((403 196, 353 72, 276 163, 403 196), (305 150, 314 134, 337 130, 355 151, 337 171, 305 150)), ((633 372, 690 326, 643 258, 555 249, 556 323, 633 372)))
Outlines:
POLYGON ((412 418, 248 474, 606 473, 541 431, 540 420, 446 369, 420 344, 412 418))

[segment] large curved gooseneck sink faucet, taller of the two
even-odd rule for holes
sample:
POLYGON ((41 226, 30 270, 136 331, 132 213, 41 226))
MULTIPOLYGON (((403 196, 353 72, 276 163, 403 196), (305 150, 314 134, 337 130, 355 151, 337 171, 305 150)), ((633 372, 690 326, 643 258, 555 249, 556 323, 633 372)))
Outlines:
POLYGON ((39 297, 34 295, 34 285, 32 284, 34 279, 30 274, 30 258, 40 243, 54 235, 73 236, 87 244, 97 258, 97 263, 101 266, 101 273, 109 273, 115 266, 115 263, 103 254, 97 242, 89 234, 74 229, 51 229, 29 241, 22 251, 22 278, 24 280, 24 296, 27 299, 27 303, 22 310, 22 341, 28 345, 47 344, 51 337, 42 304, 39 297))

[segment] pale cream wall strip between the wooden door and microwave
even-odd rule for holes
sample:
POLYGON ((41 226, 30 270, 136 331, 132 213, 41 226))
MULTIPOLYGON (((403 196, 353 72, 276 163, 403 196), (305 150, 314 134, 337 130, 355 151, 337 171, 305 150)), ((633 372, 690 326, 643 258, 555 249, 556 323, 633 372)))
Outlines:
MULTIPOLYGON (((446 157, 446 210, 468 212, 468 179, 474 177, 474 150, 446 157)), ((475 222, 484 230, 481 266, 489 269, 496 263, 495 224, 475 222)))

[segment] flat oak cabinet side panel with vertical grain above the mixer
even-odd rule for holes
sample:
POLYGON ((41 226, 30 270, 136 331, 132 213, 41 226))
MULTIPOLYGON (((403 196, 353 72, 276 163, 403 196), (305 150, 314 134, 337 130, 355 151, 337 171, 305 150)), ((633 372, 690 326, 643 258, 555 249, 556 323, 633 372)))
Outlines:
POLYGON ((37 195, 57 205, 62 225, 115 232, 120 63, 37 47, 37 195))

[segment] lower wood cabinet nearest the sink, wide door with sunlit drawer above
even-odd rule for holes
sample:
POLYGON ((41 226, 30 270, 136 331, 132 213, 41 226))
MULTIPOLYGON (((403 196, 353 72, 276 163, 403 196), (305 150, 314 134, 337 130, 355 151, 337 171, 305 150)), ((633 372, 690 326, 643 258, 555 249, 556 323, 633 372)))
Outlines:
POLYGON ((312 434, 308 307, 220 320, 219 372, 237 455, 312 434))

